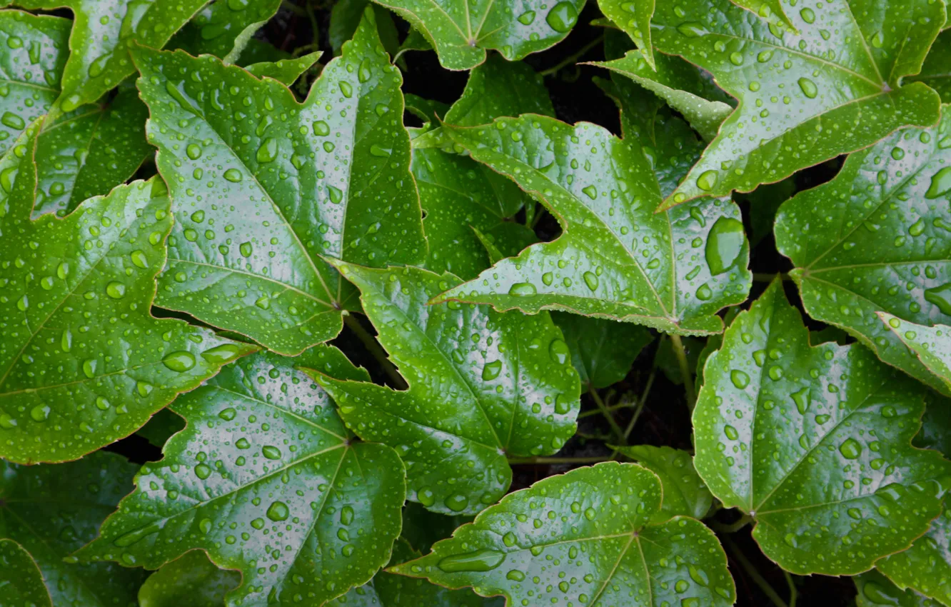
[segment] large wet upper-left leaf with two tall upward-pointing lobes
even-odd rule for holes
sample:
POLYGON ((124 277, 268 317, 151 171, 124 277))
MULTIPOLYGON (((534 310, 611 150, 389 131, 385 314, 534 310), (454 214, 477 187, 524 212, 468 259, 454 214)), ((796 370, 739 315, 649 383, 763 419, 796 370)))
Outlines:
POLYGON ((378 45, 368 10, 302 105, 211 57, 135 51, 175 200, 158 305, 293 355, 336 336, 357 299, 320 256, 425 258, 401 77, 378 45))

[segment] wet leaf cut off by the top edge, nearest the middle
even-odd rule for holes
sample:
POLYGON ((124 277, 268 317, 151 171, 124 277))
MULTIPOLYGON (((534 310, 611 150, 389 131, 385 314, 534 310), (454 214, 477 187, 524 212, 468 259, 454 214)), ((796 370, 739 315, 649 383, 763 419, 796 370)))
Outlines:
MULTIPOLYGON (((378 1, 378 0, 375 0, 378 1)), ((585 0, 555 4, 527 0, 385 0, 421 33, 446 69, 473 69, 495 49, 509 61, 560 42, 578 21, 585 0)))

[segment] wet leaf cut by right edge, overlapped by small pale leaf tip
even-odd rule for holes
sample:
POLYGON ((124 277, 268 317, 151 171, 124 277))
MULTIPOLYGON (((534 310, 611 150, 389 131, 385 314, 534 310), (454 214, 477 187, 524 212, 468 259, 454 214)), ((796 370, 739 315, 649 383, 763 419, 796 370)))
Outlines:
POLYGON ((782 206, 775 228, 809 316, 939 389, 875 313, 951 324, 948 127, 944 111, 937 127, 902 129, 850 155, 835 179, 782 206))

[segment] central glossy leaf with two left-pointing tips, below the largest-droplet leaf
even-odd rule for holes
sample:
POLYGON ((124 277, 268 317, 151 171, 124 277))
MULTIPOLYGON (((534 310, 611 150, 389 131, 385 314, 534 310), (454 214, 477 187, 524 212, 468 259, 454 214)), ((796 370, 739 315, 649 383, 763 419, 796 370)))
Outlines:
POLYGON ((360 438, 398 450, 409 499, 434 512, 475 514, 508 490, 506 455, 550 455, 573 436, 578 376, 547 314, 427 305, 458 279, 415 267, 335 264, 359 287, 379 343, 409 389, 315 377, 360 438))

